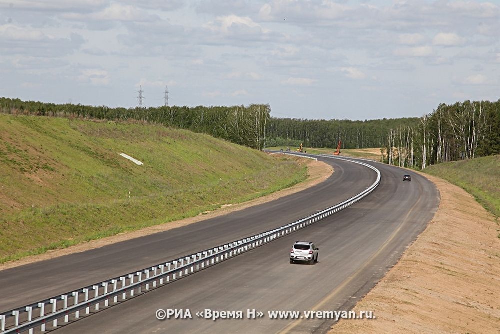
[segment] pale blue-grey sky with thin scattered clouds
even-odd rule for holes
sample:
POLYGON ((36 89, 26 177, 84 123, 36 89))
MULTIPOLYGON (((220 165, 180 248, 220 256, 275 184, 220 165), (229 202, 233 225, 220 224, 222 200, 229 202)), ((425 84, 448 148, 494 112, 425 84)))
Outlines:
POLYGON ((500 0, 0 0, 0 96, 420 117, 500 99, 500 0))

